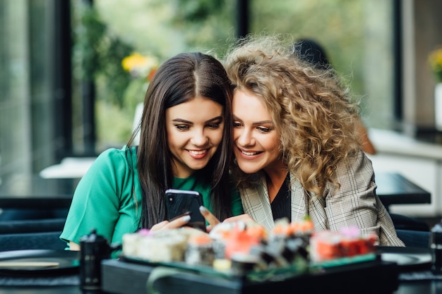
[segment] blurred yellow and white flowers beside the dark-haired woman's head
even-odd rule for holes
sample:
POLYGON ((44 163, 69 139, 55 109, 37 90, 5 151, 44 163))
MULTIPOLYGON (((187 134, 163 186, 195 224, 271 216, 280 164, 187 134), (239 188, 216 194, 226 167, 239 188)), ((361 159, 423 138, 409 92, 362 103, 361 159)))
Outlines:
POLYGON ((153 56, 143 56, 138 52, 126 56, 121 61, 125 71, 129 71, 134 78, 145 78, 150 81, 158 68, 158 61, 153 56))

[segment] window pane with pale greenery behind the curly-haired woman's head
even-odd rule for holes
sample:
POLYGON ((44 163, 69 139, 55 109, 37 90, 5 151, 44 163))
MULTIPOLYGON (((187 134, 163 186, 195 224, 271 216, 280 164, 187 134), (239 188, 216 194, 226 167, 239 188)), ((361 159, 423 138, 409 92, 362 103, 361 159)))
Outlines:
POLYGON ((366 125, 393 122, 392 0, 254 0, 251 32, 282 32, 321 44, 350 84, 366 125))

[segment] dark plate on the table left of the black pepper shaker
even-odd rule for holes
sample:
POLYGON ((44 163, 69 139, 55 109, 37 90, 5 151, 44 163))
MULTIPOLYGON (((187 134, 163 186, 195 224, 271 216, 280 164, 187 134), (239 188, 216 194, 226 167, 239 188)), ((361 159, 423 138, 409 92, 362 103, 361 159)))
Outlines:
POLYGON ((1 267, 0 275, 47 276, 77 274, 80 266, 78 252, 65 250, 13 250, 0 252, 0 262, 58 262, 53 267, 1 267))

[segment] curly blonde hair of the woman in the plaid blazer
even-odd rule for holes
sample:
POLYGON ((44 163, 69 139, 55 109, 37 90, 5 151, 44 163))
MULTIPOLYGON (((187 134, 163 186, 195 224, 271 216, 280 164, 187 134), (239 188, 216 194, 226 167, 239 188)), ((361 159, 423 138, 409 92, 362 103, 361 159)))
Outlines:
MULTIPOLYGON (((225 66, 233 86, 256 94, 270 111, 289 172, 320 196, 328 182, 340 187, 335 167, 360 147, 359 106, 332 69, 301 61, 289 44, 282 35, 249 35, 227 52, 225 66)), ((234 172, 241 174, 237 166, 234 172)), ((253 175, 241 176, 235 178, 244 185, 253 175)))

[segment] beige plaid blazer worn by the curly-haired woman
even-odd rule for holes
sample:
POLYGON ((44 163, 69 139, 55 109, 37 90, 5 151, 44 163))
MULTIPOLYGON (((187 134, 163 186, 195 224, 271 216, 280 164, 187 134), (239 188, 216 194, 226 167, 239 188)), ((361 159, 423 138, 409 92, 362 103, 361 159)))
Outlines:
MULTIPOLYGON (((352 154, 335 170, 340 189, 328 183, 322 197, 312 197, 299 180, 290 175, 292 190, 292 221, 309 215, 316 231, 338 231, 357 226, 363 235, 376 233, 378 245, 405 246, 396 235, 393 221, 376 195, 376 183, 371 161, 362 150, 352 154)), ((270 230, 275 226, 268 197, 265 174, 260 171, 257 185, 239 188, 244 213, 270 230)))

